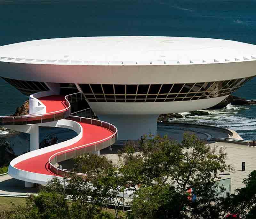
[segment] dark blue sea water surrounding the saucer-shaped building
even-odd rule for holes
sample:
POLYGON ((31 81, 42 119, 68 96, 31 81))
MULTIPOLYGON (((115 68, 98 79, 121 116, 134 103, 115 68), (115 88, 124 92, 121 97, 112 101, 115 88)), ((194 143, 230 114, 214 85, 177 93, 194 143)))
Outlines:
MULTIPOLYGON (((2 0, 0 45, 46 38, 115 35, 209 37, 256 44, 255 12, 255 0, 2 0)), ((235 95, 256 99, 255 83, 256 78, 235 95)), ((1 115, 14 113, 26 99, 0 80, 1 115)), ((182 121, 228 127, 244 139, 256 138, 256 106, 228 106, 209 112, 210 116, 182 121)))

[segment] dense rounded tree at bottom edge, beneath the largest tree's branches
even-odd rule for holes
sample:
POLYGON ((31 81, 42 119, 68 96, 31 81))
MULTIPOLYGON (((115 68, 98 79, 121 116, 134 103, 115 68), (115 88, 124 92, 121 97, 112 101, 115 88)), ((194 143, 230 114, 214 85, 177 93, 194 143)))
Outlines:
POLYGON ((187 194, 180 194, 176 188, 166 184, 142 187, 135 192, 129 218, 188 218, 187 194))

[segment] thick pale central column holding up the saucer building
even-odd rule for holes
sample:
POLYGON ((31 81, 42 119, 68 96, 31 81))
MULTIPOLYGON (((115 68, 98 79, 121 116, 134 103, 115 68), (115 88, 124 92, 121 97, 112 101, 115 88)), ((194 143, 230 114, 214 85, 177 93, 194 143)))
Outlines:
POLYGON ((157 133, 158 115, 98 115, 118 130, 118 140, 138 140, 144 134, 157 133))

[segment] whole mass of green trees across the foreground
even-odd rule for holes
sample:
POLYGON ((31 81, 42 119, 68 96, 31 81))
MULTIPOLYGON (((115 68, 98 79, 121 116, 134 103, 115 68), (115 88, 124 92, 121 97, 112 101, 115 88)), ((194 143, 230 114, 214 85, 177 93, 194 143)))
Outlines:
POLYGON ((53 178, 26 206, 0 211, 0 218, 217 219, 228 213, 255 218, 256 170, 244 179, 244 188, 222 198, 219 173, 233 171, 227 153, 195 135, 185 134, 180 144, 145 136, 128 142, 118 157, 117 164, 96 154, 77 157, 72 171, 79 175, 53 178), (124 204, 130 209, 125 214, 124 204))

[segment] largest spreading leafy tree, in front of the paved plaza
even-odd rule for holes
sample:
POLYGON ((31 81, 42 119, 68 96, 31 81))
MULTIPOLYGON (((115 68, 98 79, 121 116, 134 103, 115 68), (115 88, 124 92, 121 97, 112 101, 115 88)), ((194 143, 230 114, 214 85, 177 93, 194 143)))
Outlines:
MULTIPOLYGON (((217 150, 216 147, 206 145, 195 135, 185 134, 181 144, 177 144, 167 136, 149 139, 144 137, 139 145, 133 143, 126 145, 119 156, 121 160, 119 174, 124 176, 125 184, 130 184, 132 189, 138 188, 138 184, 143 188, 138 192, 134 189, 136 196, 132 201, 132 209, 136 209, 136 212, 148 212, 148 218, 152 218, 152 212, 158 212, 158 217, 164 218, 166 213, 163 210, 157 211, 153 208, 150 212, 149 208, 145 210, 143 207, 152 201, 155 203, 152 206, 163 209, 163 205, 156 201, 159 198, 160 203, 163 199, 163 197, 160 198, 162 193, 150 193, 151 198, 147 200, 143 192, 147 193, 152 188, 167 186, 172 188, 168 191, 176 195, 177 201, 184 200, 184 195, 190 197, 187 192, 189 189, 193 189, 196 195, 196 201, 182 201, 177 204, 180 207, 175 207, 173 218, 180 218, 180 215, 184 214, 184 209, 188 209, 190 214, 196 215, 196 218, 217 218, 221 215, 219 195, 223 192, 223 188, 217 182, 220 179, 218 172, 233 170, 225 163, 227 154, 222 149, 217 150), (147 200, 147 202, 144 201, 144 204, 138 205, 138 203, 135 204, 135 200, 137 202, 147 200), (161 212, 164 215, 161 215, 161 212)), ((169 196, 170 203, 172 203, 172 195, 169 196)), ((143 216, 147 218, 145 214, 143 216)))

